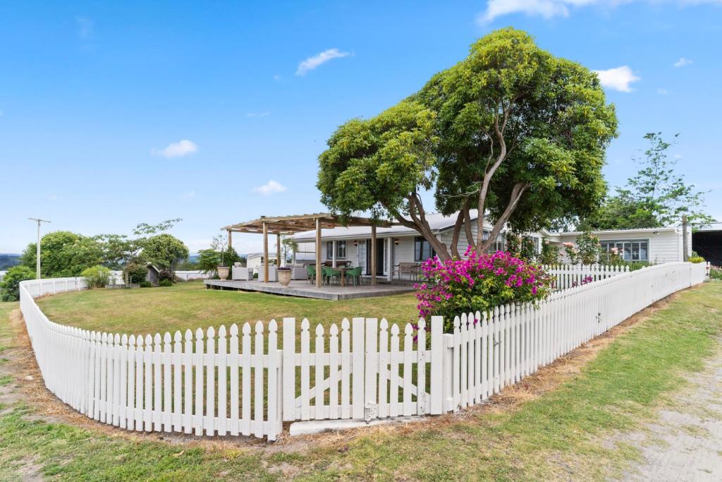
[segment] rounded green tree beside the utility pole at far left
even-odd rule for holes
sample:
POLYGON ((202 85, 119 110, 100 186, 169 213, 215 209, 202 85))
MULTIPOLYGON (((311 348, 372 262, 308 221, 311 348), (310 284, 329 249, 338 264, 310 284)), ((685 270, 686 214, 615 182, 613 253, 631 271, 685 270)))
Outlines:
MULTIPOLYGON (((36 244, 22 253, 22 264, 35 270, 36 244)), ((54 231, 40 239, 40 273, 43 277, 79 276, 82 270, 103 262, 103 247, 95 238, 70 231, 54 231)))

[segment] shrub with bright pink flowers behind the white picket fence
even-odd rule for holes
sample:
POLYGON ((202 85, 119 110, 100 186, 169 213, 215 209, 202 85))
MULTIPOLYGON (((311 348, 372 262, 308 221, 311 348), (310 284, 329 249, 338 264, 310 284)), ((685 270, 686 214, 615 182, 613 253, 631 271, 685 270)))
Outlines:
POLYGON ((511 254, 477 254, 467 249, 467 259, 422 264, 425 283, 417 283, 417 308, 422 317, 444 317, 450 332, 453 318, 462 313, 488 311, 508 303, 538 301, 549 296, 551 278, 534 264, 511 254))

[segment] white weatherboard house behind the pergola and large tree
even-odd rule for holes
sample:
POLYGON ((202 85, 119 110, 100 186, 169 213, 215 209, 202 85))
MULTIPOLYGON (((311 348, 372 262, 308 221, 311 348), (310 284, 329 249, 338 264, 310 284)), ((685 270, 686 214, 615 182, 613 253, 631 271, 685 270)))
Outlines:
MULTIPOLYGON (((444 216, 440 214, 427 215, 430 228, 435 236, 446 246, 451 246, 453 226, 456 215, 444 216)), ((488 236, 492 225, 484 226, 484 233, 488 236)), ((471 231, 476 236, 477 214, 471 211, 471 231)), ((555 244, 567 241, 574 242, 579 233, 527 233, 536 246, 541 249, 541 239, 547 238, 555 244)), ((646 262, 674 262, 682 261, 682 229, 681 228, 654 228, 623 231, 596 231, 601 246, 609 249, 616 246, 629 261, 646 262)), ((297 261, 315 259, 316 233, 308 231, 297 233, 293 238, 298 243, 297 261)), ((690 236, 691 239, 691 236, 690 236)), ((362 267, 365 275, 370 275, 371 266, 371 229, 367 226, 336 227, 321 231, 322 262, 347 262, 352 266, 362 267)), ((468 243, 462 230, 458 241, 458 251, 464 253, 468 243)), ((690 245, 691 246, 691 245, 690 245)), ((561 247, 561 246, 560 246, 561 247)), ((497 237, 495 250, 505 249, 505 234, 497 237)), ((691 249, 691 247, 690 247, 691 249)), ((412 228, 402 225, 393 225, 389 228, 378 228, 376 239, 376 271, 386 280, 413 279, 416 272, 406 272, 405 268, 418 264, 433 257, 430 244, 412 228)))

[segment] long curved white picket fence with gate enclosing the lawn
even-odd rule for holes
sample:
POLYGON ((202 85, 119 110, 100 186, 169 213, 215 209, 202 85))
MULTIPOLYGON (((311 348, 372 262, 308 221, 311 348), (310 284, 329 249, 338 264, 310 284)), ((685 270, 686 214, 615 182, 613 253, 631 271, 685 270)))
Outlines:
POLYGON ((82 280, 24 281, 20 308, 48 390, 123 429, 277 438, 282 421, 441 414, 503 387, 705 279, 705 264, 667 263, 557 291, 536 306, 389 326, 353 318, 329 330, 283 320, 184 335, 121 335, 51 322, 32 298, 82 280))

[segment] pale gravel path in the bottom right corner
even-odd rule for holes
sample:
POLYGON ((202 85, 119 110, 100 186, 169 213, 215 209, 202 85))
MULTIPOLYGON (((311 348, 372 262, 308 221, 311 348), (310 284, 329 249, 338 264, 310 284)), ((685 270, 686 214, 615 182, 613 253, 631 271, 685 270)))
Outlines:
POLYGON ((615 440, 637 447, 644 457, 624 480, 722 480, 722 348, 707 370, 689 381, 669 407, 659 410, 656 423, 615 440))

